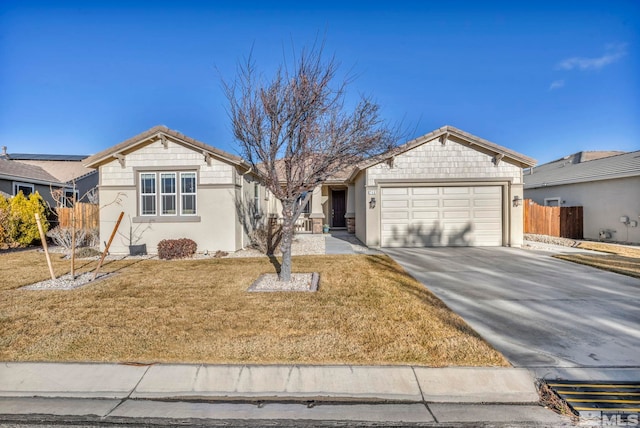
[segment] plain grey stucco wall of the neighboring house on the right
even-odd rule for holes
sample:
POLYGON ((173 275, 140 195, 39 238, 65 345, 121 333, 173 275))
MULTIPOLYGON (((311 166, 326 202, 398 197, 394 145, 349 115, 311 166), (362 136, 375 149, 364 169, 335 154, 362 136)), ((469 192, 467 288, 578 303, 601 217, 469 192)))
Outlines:
POLYGON ((526 189, 524 195, 540 205, 545 198, 560 198, 562 206, 582 206, 586 239, 597 240, 608 230, 613 241, 640 243, 640 227, 620 222, 627 216, 640 223, 640 176, 526 189))

